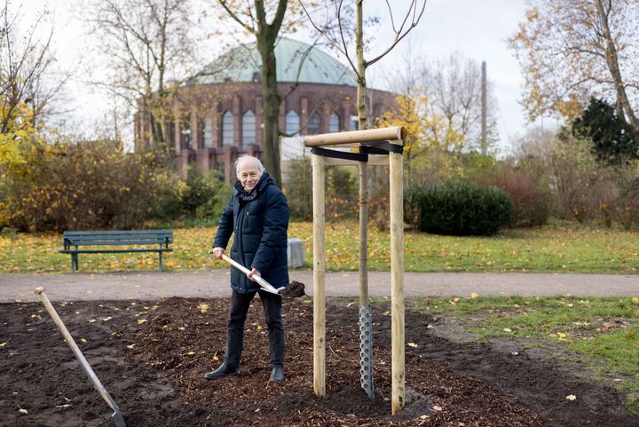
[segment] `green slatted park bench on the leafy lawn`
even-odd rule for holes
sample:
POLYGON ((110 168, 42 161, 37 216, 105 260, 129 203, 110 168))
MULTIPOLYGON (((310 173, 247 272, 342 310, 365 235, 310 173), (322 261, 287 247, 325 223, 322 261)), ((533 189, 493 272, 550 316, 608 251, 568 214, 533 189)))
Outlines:
POLYGON ((157 252, 160 256, 162 272, 162 253, 171 252, 173 230, 129 230, 129 231, 77 231, 62 234, 63 254, 71 254, 71 273, 78 269, 78 254, 106 254, 121 252, 157 252), (129 246, 129 248, 104 248, 105 246, 129 246), (153 247, 149 247, 153 246, 153 247))

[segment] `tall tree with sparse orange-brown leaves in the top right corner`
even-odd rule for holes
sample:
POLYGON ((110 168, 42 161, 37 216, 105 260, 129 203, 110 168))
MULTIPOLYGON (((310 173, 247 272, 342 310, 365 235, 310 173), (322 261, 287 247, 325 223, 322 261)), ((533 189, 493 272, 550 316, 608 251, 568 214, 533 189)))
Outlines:
POLYGON ((572 119, 591 97, 611 99, 639 130, 639 4, 627 0, 528 0, 509 38, 524 70, 531 119, 572 119))

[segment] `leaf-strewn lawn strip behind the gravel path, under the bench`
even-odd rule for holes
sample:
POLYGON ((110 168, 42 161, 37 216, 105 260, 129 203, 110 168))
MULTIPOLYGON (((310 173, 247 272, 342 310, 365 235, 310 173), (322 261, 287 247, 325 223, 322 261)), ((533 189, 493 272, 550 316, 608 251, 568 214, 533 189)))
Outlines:
MULTIPOLYGON (((208 255, 213 227, 174 230, 174 251, 165 255, 170 271, 225 268, 208 255)), ((292 223, 289 237, 304 241, 312 265, 312 224, 292 223)), ((358 225, 327 224, 327 269, 357 270, 358 225)), ((0 236, 0 273, 67 273, 70 256, 58 253, 59 234, 0 236)), ((492 237, 453 237, 405 233, 408 272, 637 273, 639 233, 561 223, 531 230, 504 230, 492 237)), ((368 233, 369 268, 390 269, 388 232, 368 233)), ((80 270, 103 272, 154 270, 157 254, 80 256, 80 270)))

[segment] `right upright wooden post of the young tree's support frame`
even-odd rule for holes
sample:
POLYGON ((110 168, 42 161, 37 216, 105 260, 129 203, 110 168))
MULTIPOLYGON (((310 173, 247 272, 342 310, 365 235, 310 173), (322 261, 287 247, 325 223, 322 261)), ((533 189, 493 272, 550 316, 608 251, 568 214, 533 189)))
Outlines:
MULTIPOLYGON (((402 145, 402 140, 390 141, 402 145)), ((405 336, 404 336, 404 160, 400 153, 390 153, 390 316, 391 316, 391 402, 392 415, 404 407, 405 336)))

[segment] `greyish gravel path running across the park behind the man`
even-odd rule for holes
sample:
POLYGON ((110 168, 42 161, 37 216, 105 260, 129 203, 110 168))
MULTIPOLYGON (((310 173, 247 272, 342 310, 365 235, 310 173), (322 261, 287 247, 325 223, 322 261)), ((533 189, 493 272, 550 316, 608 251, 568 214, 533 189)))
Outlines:
MULTIPOLYGON (((312 296, 312 270, 291 270, 290 278, 306 285, 312 296)), ((142 299, 162 297, 228 297, 228 270, 180 273, 0 274, 0 302, 37 300, 43 286, 54 301, 142 299)), ((390 297, 390 273, 369 273, 369 294, 390 297)), ((639 275, 553 273, 406 273, 406 297, 519 295, 639 297, 639 275)), ((326 273, 328 297, 359 295, 357 272, 326 273)))

